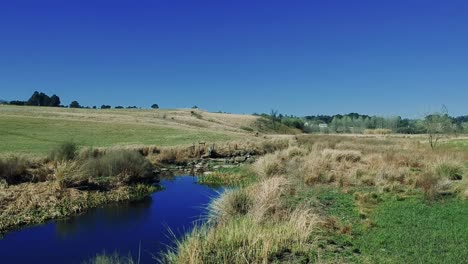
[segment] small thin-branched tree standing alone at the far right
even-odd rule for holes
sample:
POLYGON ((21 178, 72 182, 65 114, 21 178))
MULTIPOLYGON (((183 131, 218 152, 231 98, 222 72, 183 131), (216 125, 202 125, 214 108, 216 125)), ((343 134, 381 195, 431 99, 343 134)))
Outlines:
POLYGON ((432 150, 437 148, 439 141, 447 134, 453 132, 453 122, 445 107, 442 112, 427 115, 424 118, 424 128, 426 129, 429 144, 432 150))

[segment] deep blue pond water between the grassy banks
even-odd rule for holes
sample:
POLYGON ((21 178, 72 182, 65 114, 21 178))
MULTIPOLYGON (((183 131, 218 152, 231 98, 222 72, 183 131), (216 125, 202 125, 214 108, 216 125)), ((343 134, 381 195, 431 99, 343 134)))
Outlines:
POLYGON ((220 189, 196 183, 196 177, 163 180, 164 190, 133 203, 90 210, 63 221, 25 228, 0 240, 1 263, 82 263, 97 253, 119 252, 154 263, 152 256, 200 223, 220 189), (171 232, 169 232, 171 230, 171 232))

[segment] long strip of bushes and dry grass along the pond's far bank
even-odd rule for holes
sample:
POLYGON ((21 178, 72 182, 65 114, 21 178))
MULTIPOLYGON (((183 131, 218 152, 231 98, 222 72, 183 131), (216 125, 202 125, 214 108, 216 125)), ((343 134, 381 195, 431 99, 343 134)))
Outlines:
MULTIPOLYGON (((141 199, 158 189, 152 184, 158 182, 161 170, 175 164, 193 169, 200 160, 234 161, 238 156, 242 162, 249 155, 263 155, 287 146, 288 140, 282 138, 183 147, 89 148, 64 142, 43 158, 8 155, 0 158, 0 233, 111 202, 141 199)), ((239 170, 235 164, 230 166, 239 170)), ((222 173, 231 172, 225 169, 216 175, 222 173)), ((227 178, 233 185, 247 184, 252 179, 252 175, 238 175, 242 177, 237 180, 227 178)), ((209 176, 206 179, 208 183, 209 176)))

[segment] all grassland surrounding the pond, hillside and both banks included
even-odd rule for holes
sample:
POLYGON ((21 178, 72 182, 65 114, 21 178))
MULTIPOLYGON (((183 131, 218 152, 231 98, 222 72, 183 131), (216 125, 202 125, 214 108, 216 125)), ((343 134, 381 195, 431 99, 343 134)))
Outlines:
POLYGON ((147 196, 155 191, 148 183, 166 165, 193 169, 211 156, 252 153, 253 164, 200 178, 234 188, 214 200, 207 223, 162 262, 468 259, 465 137, 444 138, 435 150, 424 135, 255 137, 257 120, 200 110, 2 106, 0 231, 147 196), (41 158, 69 140, 76 149, 63 145, 41 158), (199 141, 216 145, 192 146, 199 141), (24 153, 39 157, 10 155, 24 153))

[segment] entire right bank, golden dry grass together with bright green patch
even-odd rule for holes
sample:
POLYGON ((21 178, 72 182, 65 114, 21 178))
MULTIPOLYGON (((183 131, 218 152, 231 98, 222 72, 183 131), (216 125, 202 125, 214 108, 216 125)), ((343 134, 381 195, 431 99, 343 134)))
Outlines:
POLYGON ((460 263, 466 165, 464 152, 411 139, 299 136, 259 158, 256 180, 215 200, 161 261, 460 263))

